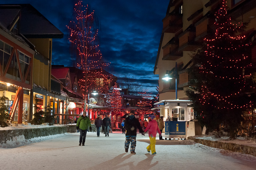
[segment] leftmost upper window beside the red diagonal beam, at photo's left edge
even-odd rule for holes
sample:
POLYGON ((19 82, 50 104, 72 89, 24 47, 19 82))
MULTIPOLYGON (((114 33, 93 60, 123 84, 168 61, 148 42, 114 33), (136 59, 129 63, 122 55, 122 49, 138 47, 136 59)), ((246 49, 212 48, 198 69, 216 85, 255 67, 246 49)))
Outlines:
POLYGON ((0 40, 0 63, 4 72, 11 56, 13 47, 0 40))

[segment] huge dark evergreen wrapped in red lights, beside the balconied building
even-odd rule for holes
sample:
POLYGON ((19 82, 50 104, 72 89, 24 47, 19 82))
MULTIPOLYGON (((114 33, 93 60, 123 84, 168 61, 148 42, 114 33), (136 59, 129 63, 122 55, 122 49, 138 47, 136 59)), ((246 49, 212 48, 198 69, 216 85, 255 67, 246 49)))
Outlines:
POLYGON ((215 14, 215 35, 204 39, 204 45, 193 56, 190 75, 193 87, 186 90, 196 118, 208 130, 219 130, 223 123, 236 138, 243 115, 254 107, 255 89, 249 45, 242 34, 245 23, 234 25, 222 2, 215 14))

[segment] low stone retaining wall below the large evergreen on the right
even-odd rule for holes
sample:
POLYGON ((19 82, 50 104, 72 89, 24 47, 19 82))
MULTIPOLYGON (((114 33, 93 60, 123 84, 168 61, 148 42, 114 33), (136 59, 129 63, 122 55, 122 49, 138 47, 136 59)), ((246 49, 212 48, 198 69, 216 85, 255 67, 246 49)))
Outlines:
POLYGON ((229 150, 229 151, 233 151, 233 152, 240 152, 240 153, 256 156, 256 147, 254 147, 254 146, 247 146, 247 145, 241 145, 241 144, 230 143, 230 142, 198 139, 198 138, 193 138, 191 136, 188 137, 188 139, 193 140, 196 143, 210 146, 212 148, 219 148, 219 149, 229 150))

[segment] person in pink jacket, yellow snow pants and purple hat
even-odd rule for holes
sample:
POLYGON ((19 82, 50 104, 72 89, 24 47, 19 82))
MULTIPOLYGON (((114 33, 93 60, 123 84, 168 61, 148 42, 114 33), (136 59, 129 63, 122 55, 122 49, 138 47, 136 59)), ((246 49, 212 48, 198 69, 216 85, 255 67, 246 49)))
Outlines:
POLYGON ((148 135, 150 139, 150 144, 147 146, 147 151, 150 152, 151 150, 152 155, 155 155, 156 132, 159 133, 159 137, 162 137, 162 134, 158 128, 155 115, 148 115, 148 117, 151 120, 148 122, 147 128, 144 130, 144 133, 146 133, 146 131, 148 130, 148 135))

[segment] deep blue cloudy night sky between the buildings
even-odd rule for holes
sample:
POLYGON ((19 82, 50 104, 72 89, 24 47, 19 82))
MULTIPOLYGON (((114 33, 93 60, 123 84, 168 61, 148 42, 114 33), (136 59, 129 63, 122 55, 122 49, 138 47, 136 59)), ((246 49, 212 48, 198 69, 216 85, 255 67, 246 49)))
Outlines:
MULTIPOLYGON (((99 40, 106 71, 117 77, 132 74, 138 83, 156 94, 158 75, 153 74, 157 50, 169 0, 83 1, 100 21, 99 40)), ((1 0, 1 4, 31 4, 64 33, 52 43, 54 65, 73 66, 69 52, 68 29, 74 1, 1 0)))

